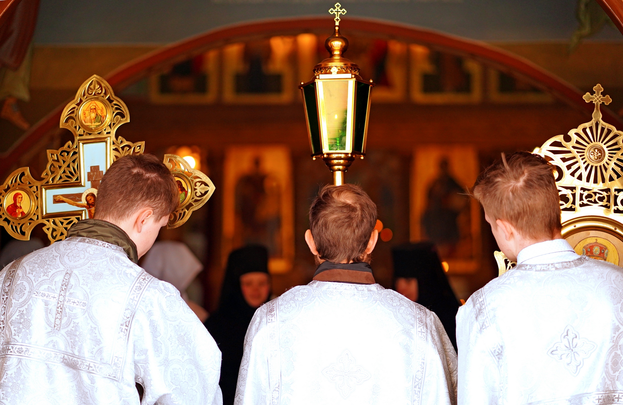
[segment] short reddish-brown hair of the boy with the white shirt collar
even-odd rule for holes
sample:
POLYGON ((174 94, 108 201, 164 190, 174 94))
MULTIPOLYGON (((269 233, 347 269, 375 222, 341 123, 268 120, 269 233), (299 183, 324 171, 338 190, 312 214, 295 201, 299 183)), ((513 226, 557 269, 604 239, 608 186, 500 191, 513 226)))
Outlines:
POLYGON ((539 155, 515 152, 483 171, 472 195, 494 221, 505 219, 523 237, 551 237, 561 230, 554 166, 539 155))

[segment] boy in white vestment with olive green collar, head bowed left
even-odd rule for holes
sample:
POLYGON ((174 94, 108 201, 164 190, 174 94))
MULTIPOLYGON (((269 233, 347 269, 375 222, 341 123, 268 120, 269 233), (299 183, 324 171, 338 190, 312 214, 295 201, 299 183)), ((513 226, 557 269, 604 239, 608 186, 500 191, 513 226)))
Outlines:
POLYGON ((216 343, 136 264, 178 204, 161 161, 125 156, 102 178, 95 219, 0 272, 0 403, 221 403, 216 343))

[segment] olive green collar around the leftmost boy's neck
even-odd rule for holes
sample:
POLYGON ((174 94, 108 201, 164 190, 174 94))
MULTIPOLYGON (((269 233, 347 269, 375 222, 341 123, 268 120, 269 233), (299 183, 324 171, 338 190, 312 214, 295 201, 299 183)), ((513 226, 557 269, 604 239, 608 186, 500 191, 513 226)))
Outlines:
POLYGON ((123 229, 108 221, 83 219, 69 228, 67 237, 89 237, 97 241, 117 245, 125 250, 128 259, 138 264, 138 252, 136 252, 135 243, 123 229))

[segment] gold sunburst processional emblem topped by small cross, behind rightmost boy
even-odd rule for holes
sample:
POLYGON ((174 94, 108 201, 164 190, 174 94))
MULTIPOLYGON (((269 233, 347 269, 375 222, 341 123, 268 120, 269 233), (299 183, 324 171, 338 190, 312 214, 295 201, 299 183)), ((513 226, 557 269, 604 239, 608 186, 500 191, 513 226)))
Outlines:
MULTIPOLYGON (((576 253, 620 265, 623 255, 623 132, 603 122, 599 105, 612 99, 601 85, 584 100, 595 104, 590 122, 554 136, 535 153, 554 165, 562 234, 576 253)), ((495 252, 502 275, 506 264, 495 252)), ((507 260, 507 259, 506 259, 507 260)))

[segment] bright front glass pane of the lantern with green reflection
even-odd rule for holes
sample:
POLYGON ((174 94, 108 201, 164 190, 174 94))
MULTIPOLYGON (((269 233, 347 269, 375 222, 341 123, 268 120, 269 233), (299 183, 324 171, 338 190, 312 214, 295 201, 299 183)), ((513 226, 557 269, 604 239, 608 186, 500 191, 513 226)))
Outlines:
POLYGON ((330 151, 348 150, 348 80, 327 80, 322 83, 322 93, 325 102, 325 147, 330 151))

